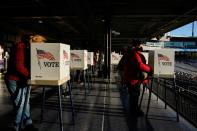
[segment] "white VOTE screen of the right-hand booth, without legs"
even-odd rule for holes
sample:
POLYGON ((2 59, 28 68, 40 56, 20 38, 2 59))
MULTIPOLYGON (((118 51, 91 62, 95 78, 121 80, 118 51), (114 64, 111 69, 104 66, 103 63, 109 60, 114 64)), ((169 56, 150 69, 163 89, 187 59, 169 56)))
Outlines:
POLYGON ((154 76, 174 77, 175 51, 172 49, 157 49, 149 51, 148 64, 153 68, 154 76))

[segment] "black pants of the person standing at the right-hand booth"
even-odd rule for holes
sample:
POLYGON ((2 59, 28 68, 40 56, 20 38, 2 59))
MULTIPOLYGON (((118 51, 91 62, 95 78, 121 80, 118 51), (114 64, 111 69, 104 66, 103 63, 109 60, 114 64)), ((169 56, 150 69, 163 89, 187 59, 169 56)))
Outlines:
POLYGON ((137 114, 139 111, 138 100, 140 96, 140 84, 131 85, 127 84, 129 93, 130 113, 137 114))

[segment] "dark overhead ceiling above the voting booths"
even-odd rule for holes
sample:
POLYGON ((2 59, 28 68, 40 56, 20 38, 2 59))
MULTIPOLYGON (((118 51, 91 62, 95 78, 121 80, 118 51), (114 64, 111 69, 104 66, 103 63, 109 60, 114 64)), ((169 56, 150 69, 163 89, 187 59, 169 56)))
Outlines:
POLYGON ((103 49, 111 22, 112 50, 131 38, 157 37, 197 19, 195 0, 4 0, 0 30, 33 32, 73 47, 103 49), (6 15, 5 15, 6 14, 6 15), (115 32, 115 33, 114 33, 115 32))

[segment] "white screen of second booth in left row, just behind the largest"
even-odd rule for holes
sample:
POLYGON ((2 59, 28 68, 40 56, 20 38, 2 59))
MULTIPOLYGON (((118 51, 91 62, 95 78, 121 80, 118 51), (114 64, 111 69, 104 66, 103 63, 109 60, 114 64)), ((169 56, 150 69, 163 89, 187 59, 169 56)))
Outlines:
POLYGON ((88 51, 87 50, 71 50, 71 69, 86 70, 88 68, 88 51))

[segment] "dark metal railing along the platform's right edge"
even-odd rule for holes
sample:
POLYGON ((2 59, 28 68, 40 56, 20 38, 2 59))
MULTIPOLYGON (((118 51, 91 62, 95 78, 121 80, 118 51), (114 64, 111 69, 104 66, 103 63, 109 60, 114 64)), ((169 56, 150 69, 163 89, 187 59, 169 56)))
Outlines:
MULTIPOLYGON (((186 77, 181 78, 180 76, 176 79, 176 89, 178 91, 178 110, 179 113, 197 127, 197 82, 189 80, 186 77)), ((158 81, 154 80, 153 92, 162 100, 165 100, 165 88, 166 88, 166 102, 167 104, 175 109, 175 92, 172 88, 173 82, 168 79, 159 80, 159 88, 156 84, 158 81)))

